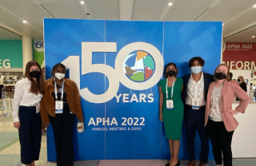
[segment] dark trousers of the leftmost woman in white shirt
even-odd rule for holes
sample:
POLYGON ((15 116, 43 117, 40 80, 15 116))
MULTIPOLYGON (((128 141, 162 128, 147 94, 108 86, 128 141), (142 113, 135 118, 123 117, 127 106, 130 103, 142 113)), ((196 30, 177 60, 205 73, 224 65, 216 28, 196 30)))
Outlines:
POLYGON ((21 160, 23 164, 30 164, 34 160, 39 160, 42 139, 41 115, 36 113, 35 106, 20 106, 18 117, 21 123, 18 129, 21 160))

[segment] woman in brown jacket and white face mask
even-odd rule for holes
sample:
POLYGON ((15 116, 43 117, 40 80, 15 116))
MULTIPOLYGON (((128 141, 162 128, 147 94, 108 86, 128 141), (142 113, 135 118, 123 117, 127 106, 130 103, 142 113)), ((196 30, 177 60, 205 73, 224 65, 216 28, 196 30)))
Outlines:
POLYGON ((65 73, 65 65, 54 65, 53 77, 46 80, 41 101, 42 124, 53 127, 57 165, 62 166, 74 164, 74 114, 78 121, 83 121, 78 87, 74 81, 65 78, 65 73))

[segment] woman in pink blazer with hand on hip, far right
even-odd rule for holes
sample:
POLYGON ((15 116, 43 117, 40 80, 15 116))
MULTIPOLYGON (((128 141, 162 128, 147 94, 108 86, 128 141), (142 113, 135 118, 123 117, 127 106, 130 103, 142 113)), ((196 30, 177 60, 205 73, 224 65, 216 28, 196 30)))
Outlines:
POLYGON ((231 141, 238 121, 233 117, 237 113, 245 113, 250 101, 247 93, 237 83, 230 81, 228 65, 221 64, 215 69, 215 81, 209 86, 206 102, 206 131, 213 146, 214 160, 217 165, 232 165, 231 141), (232 110, 235 97, 241 99, 240 104, 232 110))

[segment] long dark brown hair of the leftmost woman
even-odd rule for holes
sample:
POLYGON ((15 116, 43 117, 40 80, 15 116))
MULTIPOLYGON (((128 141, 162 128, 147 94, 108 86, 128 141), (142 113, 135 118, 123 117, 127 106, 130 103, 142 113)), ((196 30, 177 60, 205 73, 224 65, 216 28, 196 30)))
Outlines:
POLYGON ((40 65, 38 64, 37 61, 33 60, 33 61, 27 62, 25 77, 27 77, 31 81, 30 93, 44 94, 44 77, 43 77, 43 74, 42 74, 42 69, 41 69, 41 67, 40 67, 40 65), (40 77, 37 79, 37 82, 35 82, 34 79, 32 79, 30 77, 30 68, 34 65, 38 66, 38 68, 40 69, 40 77))

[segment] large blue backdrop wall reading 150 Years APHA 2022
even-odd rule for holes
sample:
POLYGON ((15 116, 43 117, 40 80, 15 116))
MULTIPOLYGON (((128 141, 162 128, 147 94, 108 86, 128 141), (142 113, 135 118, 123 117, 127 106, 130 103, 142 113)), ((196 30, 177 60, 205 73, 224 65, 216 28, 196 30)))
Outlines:
MULTIPOLYGON (((80 89, 85 132, 76 132, 74 125, 75 160, 170 157, 158 120, 164 65, 176 63, 182 77, 190 73, 191 57, 206 61, 206 73, 214 73, 221 61, 222 22, 46 18, 44 36, 46 78, 62 62, 68 68, 66 77, 80 89)), ((47 149, 48 160, 56 160, 51 127, 47 149)), ((179 158, 187 157, 183 127, 179 158)))

